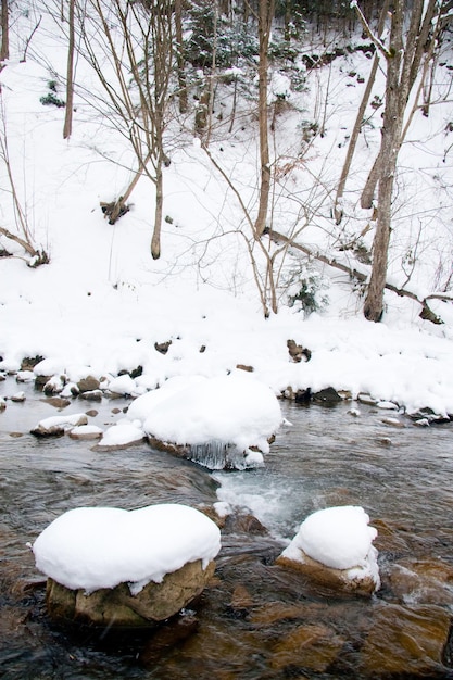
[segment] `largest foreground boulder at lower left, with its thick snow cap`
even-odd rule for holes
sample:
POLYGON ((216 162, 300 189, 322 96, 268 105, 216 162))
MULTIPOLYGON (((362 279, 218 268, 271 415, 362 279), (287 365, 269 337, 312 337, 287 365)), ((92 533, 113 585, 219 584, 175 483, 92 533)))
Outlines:
POLYGON ((32 546, 56 619, 143 627, 198 596, 214 572, 217 526, 186 505, 79 507, 32 546))

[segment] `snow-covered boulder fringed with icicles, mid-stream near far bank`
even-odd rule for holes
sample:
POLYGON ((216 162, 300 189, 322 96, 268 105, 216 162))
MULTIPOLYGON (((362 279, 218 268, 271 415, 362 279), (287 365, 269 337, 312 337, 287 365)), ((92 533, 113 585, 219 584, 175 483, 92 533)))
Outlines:
POLYGON ((211 469, 263 465, 282 420, 274 392, 241 370, 169 379, 139 396, 128 417, 142 424, 153 445, 211 469))

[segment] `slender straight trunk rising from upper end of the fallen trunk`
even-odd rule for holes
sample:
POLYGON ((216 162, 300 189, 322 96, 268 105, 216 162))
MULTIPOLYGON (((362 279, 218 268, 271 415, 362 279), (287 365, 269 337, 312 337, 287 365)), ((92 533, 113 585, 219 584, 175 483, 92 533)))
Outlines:
POLYGON ((267 121, 267 75, 268 58, 267 50, 270 38, 270 26, 274 18, 275 0, 260 0, 259 11, 259 41, 260 41, 260 64, 259 64, 259 125, 260 125, 260 205, 255 221, 255 232, 261 236, 266 228, 267 207, 270 192, 270 166, 269 166, 269 142, 268 142, 268 121, 267 121))

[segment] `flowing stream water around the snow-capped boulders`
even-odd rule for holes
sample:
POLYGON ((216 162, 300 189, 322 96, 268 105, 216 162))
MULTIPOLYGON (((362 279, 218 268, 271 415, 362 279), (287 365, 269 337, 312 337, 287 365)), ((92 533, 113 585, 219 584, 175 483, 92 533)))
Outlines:
MULTIPOLYGON (((444 645, 453 610, 453 425, 419 428, 400 417, 406 427, 398 428, 376 407, 358 405, 354 416, 348 403, 284 402, 292 425, 279 431, 264 468, 210 473, 146 443, 99 452, 67 436, 36 439, 29 430, 61 414, 12 378, 0 395, 20 389, 25 403, 8 401, 0 414, 1 678, 453 678, 444 645), (214 580, 190 610, 135 633, 48 619, 26 543, 52 519, 81 505, 218 500, 236 511, 214 580), (382 588, 372 599, 340 596, 275 565, 310 513, 345 504, 362 505, 379 531, 382 588)), ((90 421, 105 427, 127 403, 77 400, 65 413, 96 408, 90 421)))

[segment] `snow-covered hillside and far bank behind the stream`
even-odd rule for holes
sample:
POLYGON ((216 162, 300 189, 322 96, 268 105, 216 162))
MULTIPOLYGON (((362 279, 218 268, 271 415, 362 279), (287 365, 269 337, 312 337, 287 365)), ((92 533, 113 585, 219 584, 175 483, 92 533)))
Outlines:
MULTIPOLYGON (((172 164, 164 176, 162 257, 152 261, 149 253, 154 198, 146 178, 133 194, 130 212, 109 225, 99 202, 124 191, 131 177, 130 152, 117 130, 79 95, 73 135, 63 140, 64 110, 39 101, 52 78, 64 96, 65 43, 46 12, 27 59, 21 62, 24 36, 42 10, 39 3, 35 7, 16 17, 11 59, 0 75, 0 134, 7 133, 11 171, 33 240, 50 255, 50 264, 28 267, 21 259, 24 251, 1 237, 1 247, 20 256, 0 260, 0 369, 17 370, 23 357, 40 355, 48 362, 48 375, 77 380, 92 374, 110 380, 121 370, 141 366, 137 382, 151 389, 175 376, 225 376, 242 364, 252 366, 254 377, 276 394, 288 386, 314 391, 331 386, 349 390, 353 398, 367 392, 394 401, 407 411, 430 407, 442 415, 453 413, 451 304, 432 303, 445 322, 435 326, 418 317, 416 302, 387 292, 382 323, 370 324, 362 316, 363 299, 347 275, 319 263, 301 263, 290 251, 278 261, 279 312, 263 317, 244 247, 243 213, 190 130, 168 133, 172 164), (298 263, 323 284, 319 310, 311 315, 285 304, 282 284, 298 263), (293 363, 288 339, 310 349, 311 361, 293 363), (154 349, 154 343, 169 340, 165 355, 154 349)), ((290 105, 277 116, 280 182, 274 226, 289 235, 300 229, 298 240, 312 250, 331 248, 336 240, 344 242, 364 231, 362 241, 367 247, 372 242, 373 229, 365 229, 370 214, 357 209, 357 191, 377 150, 381 110, 369 110, 344 199, 348 217, 339 228, 327 200, 329 187, 338 181, 363 92, 357 78, 366 78, 369 65, 370 60, 357 52, 316 70, 307 76, 304 91, 291 92, 290 105), (358 75, 351 76, 352 72, 358 75), (314 111, 316 91, 317 101, 328 95, 325 116, 314 111), (316 115, 325 117, 326 134, 315 139, 305 156, 298 155, 301 119, 316 115)), ((440 66, 437 74, 440 97, 451 76, 440 66)), ((77 79, 99 90, 81 58, 77 79)), ((274 90, 281 85, 278 78, 275 83, 274 90)), ((376 88, 382 93, 381 75, 376 88)), ((420 295, 438 290, 451 268, 451 142, 444 131, 449 119, 448 103, 433 105, 429 118, 417 113, 401 155, 389 278, 402 285, 408 276, 407 289, 420 295)), ((218 123, 210 150, 254 215, 256 129, 238 122, 227 134, 227 127, 218 123)), ((3 165, 0 172, 0 224, 14 231, 3 165)), ((256 248, 254 254, 263 267, 256 248)), ((344 262, 347 254, 336 251, 344 262)), ((369 273, 366 265, 362 269, 369 273)))

